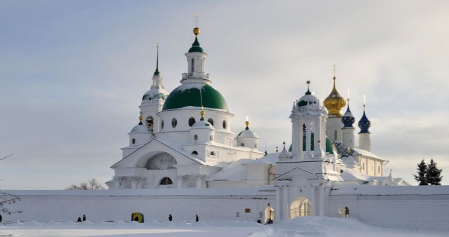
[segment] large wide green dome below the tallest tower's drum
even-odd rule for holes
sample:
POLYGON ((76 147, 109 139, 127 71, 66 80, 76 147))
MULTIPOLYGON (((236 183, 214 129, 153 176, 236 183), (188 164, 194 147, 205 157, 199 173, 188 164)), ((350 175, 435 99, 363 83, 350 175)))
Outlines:
POLYGON ((185 83, 178 86, 166 98, 162 110, 180 109, 183 107, 203 107, 228 111, 225 98, 212 86, 204 83, 185 83))

